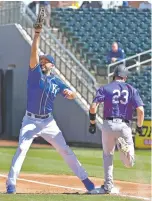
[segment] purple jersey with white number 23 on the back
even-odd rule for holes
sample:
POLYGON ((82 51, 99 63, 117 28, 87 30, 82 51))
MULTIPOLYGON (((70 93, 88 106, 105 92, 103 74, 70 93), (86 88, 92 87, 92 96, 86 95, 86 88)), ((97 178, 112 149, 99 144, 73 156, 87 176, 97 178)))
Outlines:
POLYGON ((133 111, 143 106, 138 91, 125 82, 113 81, 98 89, 93 102, 104 103, 104 118, 132 120, 133 111))

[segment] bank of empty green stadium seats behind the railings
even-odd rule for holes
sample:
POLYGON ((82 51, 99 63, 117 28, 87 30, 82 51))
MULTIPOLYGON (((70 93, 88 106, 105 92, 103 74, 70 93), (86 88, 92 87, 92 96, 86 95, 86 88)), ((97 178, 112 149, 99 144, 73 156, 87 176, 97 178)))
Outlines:
MULTIPOLYGON (((54 25, 59 27, 75 51, 80 53, 82 60, 85 59, 89 66, 97 61, 97 66, 105 68, 106 65, 103 65, 106 64, 105 57, 114 41, 119 42, 126 57, 151 48, 151 12, 147 9, 59 8, 52 10, 54 25)), ((144 55, 141 61, 150 57, 151 55, 144 55)), ((127 65, 133 64, 135 64, 134 60, 127 63, 127 65)))

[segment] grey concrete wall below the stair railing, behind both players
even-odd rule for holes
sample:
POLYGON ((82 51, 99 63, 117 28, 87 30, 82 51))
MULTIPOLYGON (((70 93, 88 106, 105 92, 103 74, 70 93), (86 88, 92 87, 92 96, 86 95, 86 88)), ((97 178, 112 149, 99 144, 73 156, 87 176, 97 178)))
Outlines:
MULTIPOLYGON (((0 68, 15 64, 13 69, 12 132, 8 136, 18 136, 21 121, 26 110, 26 81, 29 65, 30 45, 22 37, 15 25, 0 26, 0 68)), ((88 133, 88 116, 77 101, 58 96, 54 106, 54 117, 68 142, 101 144, 101 132, 88 133)))

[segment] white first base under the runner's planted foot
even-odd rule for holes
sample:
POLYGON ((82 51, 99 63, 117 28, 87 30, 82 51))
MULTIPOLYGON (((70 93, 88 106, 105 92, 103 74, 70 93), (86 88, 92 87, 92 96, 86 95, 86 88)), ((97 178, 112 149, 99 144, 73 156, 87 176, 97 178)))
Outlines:
POLYGON ((119 189, 113 187, 111 190, 106 190, 104 185, 101 187, 96 187, 91 191, 88 191, 87 194, 119 194, 119 189))

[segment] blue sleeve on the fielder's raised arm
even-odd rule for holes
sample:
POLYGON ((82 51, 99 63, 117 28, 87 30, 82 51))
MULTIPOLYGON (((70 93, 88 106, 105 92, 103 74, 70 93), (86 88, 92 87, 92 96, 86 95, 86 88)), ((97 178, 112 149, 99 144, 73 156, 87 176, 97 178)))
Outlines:
POLYGON ((42 75, 40 64, 36 65, 35 68, 28 70, 28 82, 35 83, 40 80, 42 75))

